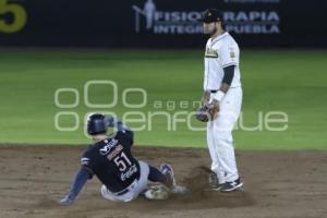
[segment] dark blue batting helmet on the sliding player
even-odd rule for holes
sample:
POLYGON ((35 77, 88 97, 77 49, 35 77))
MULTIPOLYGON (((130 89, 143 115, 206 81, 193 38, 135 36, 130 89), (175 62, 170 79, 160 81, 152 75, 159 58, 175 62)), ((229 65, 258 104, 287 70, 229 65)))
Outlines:
POLYGON ((106 117, 102 113, 92 113, 87 118, 87 133, 97 135, 107 132, 106 117))

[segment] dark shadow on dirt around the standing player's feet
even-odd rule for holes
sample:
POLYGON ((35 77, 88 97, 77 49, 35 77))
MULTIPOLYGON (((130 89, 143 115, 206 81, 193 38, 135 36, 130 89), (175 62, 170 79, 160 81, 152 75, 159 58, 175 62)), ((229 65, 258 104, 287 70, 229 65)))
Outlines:
MULTIPOLYGON (((209 169, 205 167, 195 168, 191 175, 182 180, 182 184, 191 190, 191 193, 184 195, 171 195, 165 201, 148 201, 140 198, 132 202, 136 208, 144 208, 147 204, 153 210, 161 209, 210 209, 210 208, 234 208, 245 207, 255 204, 254 198, 246 191, 238 191, 232 193, 220 193, 217 191, 207 190, 208 187, 209 169)), ((123 207, 128 205, 123 205, 123 207)), ((131 208, 131 207, 129 207, 131 208)))

